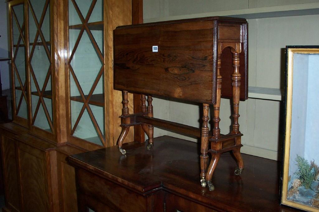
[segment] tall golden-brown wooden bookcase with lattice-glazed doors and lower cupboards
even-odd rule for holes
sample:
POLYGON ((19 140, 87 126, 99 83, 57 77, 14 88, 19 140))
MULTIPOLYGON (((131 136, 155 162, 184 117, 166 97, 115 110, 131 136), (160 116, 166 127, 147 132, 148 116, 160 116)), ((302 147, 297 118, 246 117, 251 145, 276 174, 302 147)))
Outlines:
POLYGON ((4 210, 76 211, 66 157, 115 145, 121 132, 112 32, 131 24, 132 3, 13 0, 8 8, 13 122, 0 125, 4 210))

